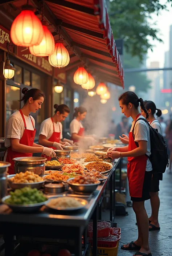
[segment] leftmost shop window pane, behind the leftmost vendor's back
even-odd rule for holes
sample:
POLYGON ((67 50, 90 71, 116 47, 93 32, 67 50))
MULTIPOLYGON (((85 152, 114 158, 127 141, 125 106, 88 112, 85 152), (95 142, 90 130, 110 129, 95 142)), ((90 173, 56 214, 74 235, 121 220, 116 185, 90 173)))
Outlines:
POLYGON ((6 87, 6 121, 15 111, 20 109, 20 88, 7 85, 6 87))

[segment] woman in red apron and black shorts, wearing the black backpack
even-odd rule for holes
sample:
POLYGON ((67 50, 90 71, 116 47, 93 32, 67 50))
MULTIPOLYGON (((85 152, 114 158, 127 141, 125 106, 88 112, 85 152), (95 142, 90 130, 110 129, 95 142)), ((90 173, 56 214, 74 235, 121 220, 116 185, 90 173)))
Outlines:
MULTIPOLYGON (((150 131, 146 121, 138 121, 138 119, 143 118, 138 110, 139 102, 146 113, 146 118, 148 118, 143 99, 138 98, 134 92, 125 92, 119 97, 122 113, 127 118, 132 117, 133 119, 129 133, 129 144, 125 147, 111 148, 107 155, 112 159, 128 157, 129 191, 138 223, 138 239, 122 245, 121 248, 137 250, 138 252, 134 254, 137 256, 152 256, 148 243, 149 221, 144 207, 144 201, 150 199, 149 191, 152 178, 152 164, 146 156, 151 154, 150 131)), ((128 236, 130 236, 130 232, 128 236)))

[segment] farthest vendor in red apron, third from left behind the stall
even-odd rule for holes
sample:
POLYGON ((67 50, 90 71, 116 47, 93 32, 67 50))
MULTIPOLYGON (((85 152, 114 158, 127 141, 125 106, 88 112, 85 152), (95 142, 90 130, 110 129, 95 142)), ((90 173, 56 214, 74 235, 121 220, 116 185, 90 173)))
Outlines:
POLYGON ((91 135, 85 135, 85 129, 82 125, 83 119, 85 119, 87 110, 85 107, 75 107, 73 114, 73 120, 70 123, 70 134, 74 142, 87 142, 90 145, 95 142, 95 139, 91 135))

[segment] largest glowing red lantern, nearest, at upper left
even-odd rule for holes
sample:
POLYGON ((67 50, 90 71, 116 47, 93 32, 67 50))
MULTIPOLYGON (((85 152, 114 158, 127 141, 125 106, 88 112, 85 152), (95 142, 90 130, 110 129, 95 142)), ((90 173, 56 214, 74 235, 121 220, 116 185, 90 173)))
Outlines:
POLYGON ((31 5, 23 5, 21 13, 11 26, 11 40, 17 46, 38 45, 43 38, 41 21, 33 12, 31 5))

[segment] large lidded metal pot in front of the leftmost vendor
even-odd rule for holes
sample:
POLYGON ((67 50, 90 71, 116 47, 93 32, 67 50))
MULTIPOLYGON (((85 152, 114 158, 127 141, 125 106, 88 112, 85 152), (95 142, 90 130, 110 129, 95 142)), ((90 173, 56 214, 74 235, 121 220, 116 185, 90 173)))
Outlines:
POLYGON ((13 158, 15 161, 15 173, 31 171, 39 176, 45 175, 45 161, 44 157, 17 157, 13 158))

